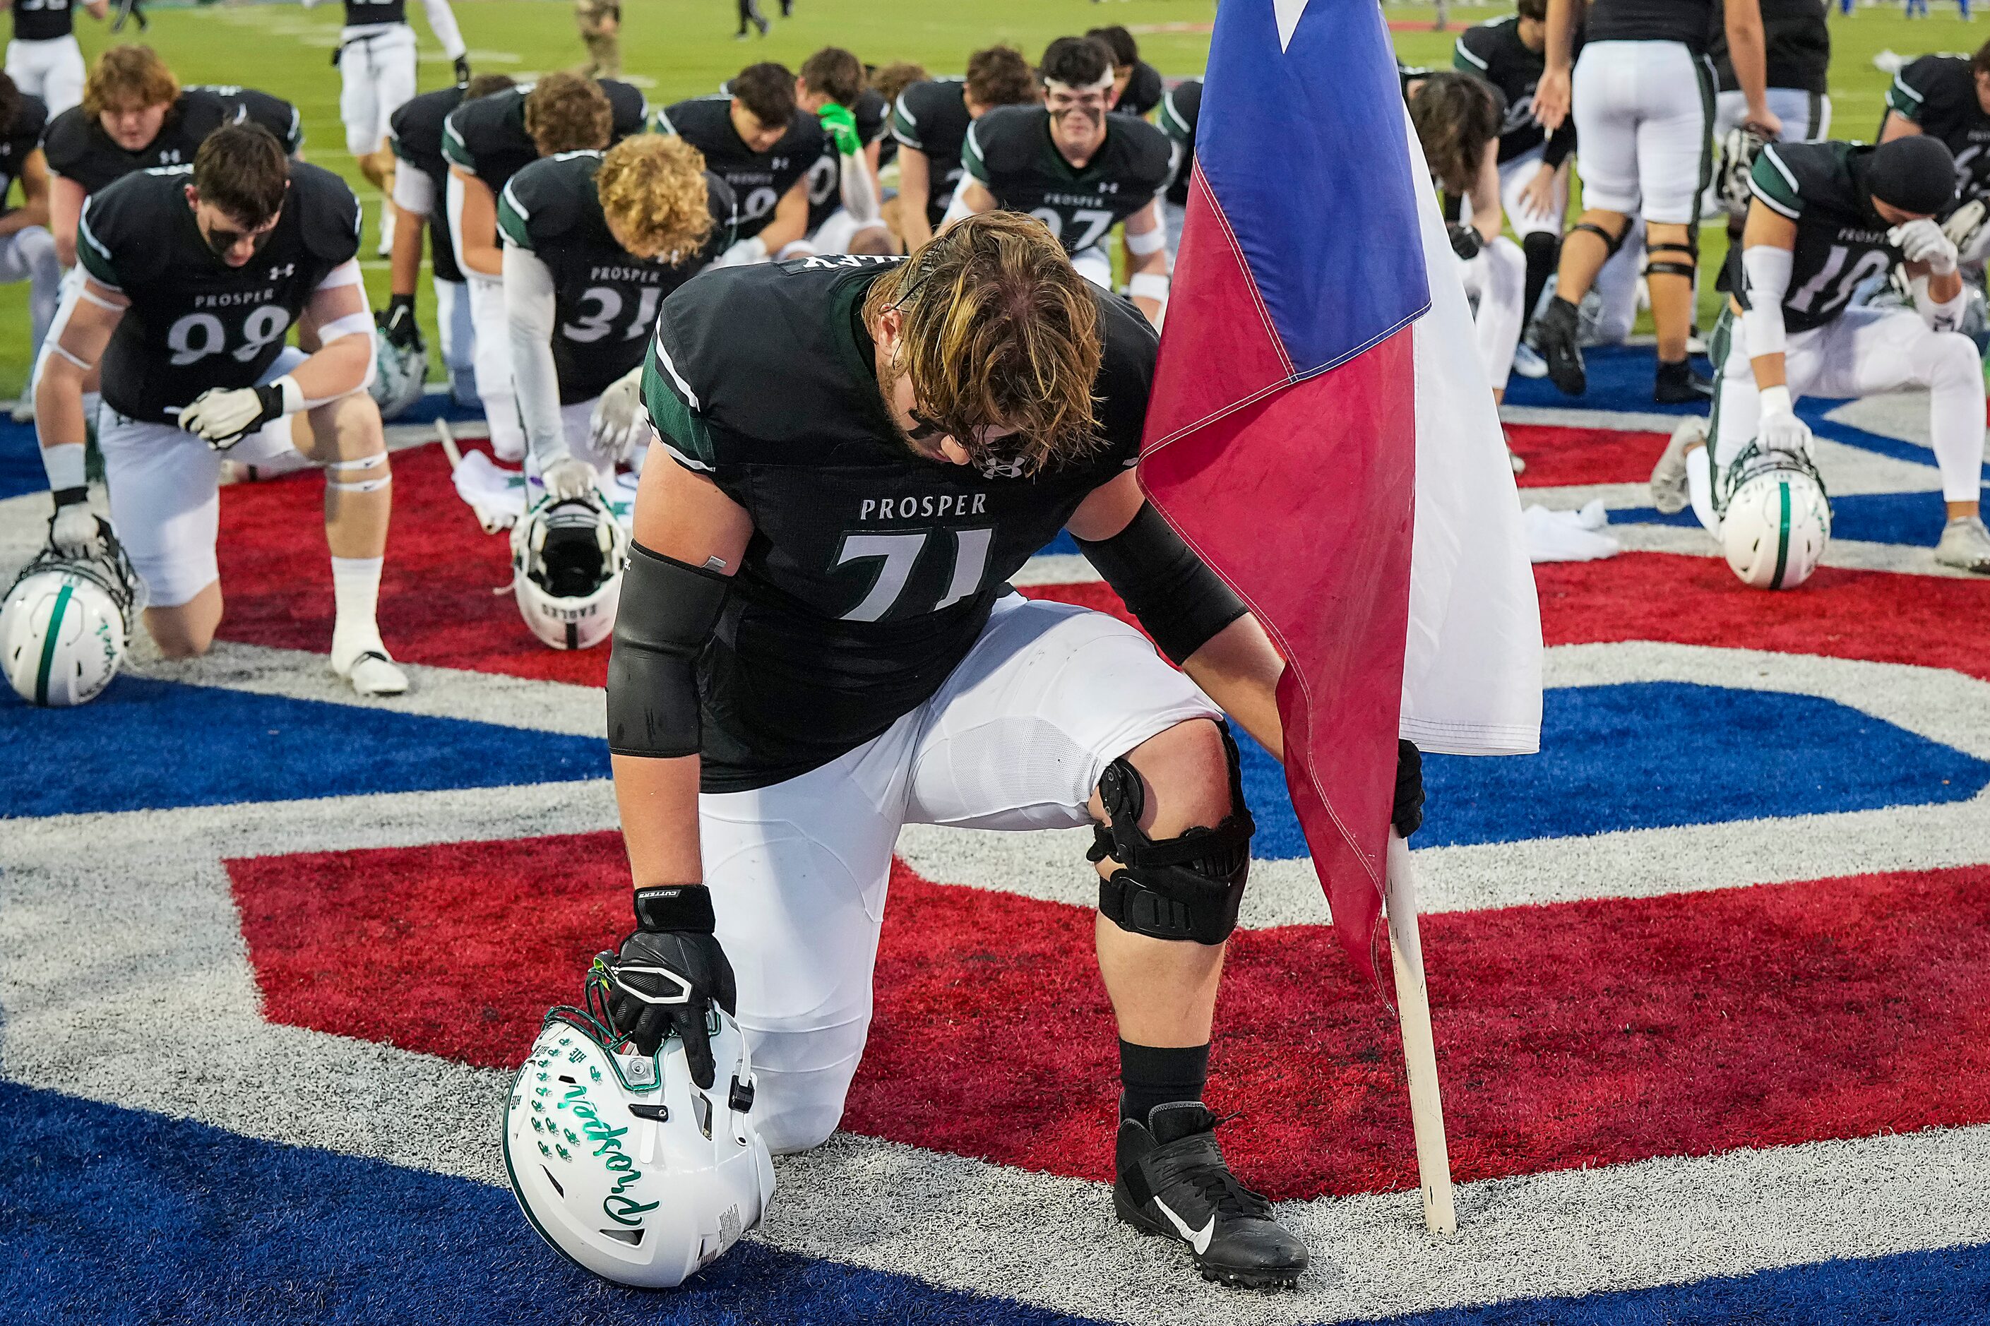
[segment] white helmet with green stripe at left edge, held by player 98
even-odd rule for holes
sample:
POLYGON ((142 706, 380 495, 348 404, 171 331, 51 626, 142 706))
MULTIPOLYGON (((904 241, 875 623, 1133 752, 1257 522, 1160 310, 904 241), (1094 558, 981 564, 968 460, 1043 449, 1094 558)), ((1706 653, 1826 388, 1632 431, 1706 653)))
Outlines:
POLYGON ((30 705, 86 705, 117 675, 139 607, 139 577, 98 520, 101 552, 44 548, 0 601, 0 667, 30 705))

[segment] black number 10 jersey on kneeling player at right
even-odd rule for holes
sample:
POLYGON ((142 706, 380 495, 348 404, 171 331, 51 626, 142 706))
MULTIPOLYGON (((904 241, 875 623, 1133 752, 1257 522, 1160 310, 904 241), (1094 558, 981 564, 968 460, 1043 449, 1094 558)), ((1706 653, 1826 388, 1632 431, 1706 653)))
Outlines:
MULTIPOLYGON (((1845 313, 1853 293, 1900 261, 1865 185, 1873 147, 1861 143, 1769 143, 1755 157, 1749 191, 1763 207, 1797 223, 1797 249, 1783 297, 1783 327, 1823 327, 1845 313)), ((1729 257, 1727 285, 1743 309, 1741 249, 1729 257)))

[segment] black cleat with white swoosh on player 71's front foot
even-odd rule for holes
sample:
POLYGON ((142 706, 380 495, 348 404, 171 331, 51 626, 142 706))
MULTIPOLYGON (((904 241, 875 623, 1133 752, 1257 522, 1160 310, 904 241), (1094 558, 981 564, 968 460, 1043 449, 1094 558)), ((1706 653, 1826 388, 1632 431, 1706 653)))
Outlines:
POLYGON ((1156 1105, 1146 1125, 1122 1119, 1112 1213, 1142 1234, 1188 1244, 1204 1280, 1288 1288, 1305 1244, 1272 1218, 1272 1203, 1224 1165, 1216 1115, 1198 1101, 1156 1105))

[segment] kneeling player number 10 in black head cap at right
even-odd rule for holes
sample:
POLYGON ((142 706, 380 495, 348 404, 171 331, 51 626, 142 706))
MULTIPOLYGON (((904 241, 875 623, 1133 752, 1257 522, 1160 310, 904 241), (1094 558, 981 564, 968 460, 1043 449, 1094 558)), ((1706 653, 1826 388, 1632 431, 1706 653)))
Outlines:
POLYGON ((1990 534, 1978 516, 1984 456, 1984 378, 1976 344, 1960 334, 1956 247, 1930 219, 1948 205, 1954 157, 1934 137, 1879 147, 1771 143, 1755 159, 1739 279, 1719 362, 1713 446, 1680 430, 1652 474, 1654 498, 1678 510, 1692 494, 1699 522, 1719 532, 1727 470, 1741 450, 1809 454, 1803 396, 1877 396, 1928 390, 1928 432, 1942 472, 1948 524, 1934 559, 1990 573, 1990 534), (1914 283, 1916 311, 1851 307, 1855 291, 1896 261, 1914 283), (1733 321, 1739 334, 1731 334, 1733 321))

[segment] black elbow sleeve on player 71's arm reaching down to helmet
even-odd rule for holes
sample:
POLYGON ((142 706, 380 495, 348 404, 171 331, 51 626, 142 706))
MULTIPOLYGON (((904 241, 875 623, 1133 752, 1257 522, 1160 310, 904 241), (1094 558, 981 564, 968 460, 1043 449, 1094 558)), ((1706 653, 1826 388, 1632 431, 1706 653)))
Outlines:
POLYGON ((732 581, 629 548, 609 655, 609 753, 673 759, 698 753, 698 655, 732 581))

